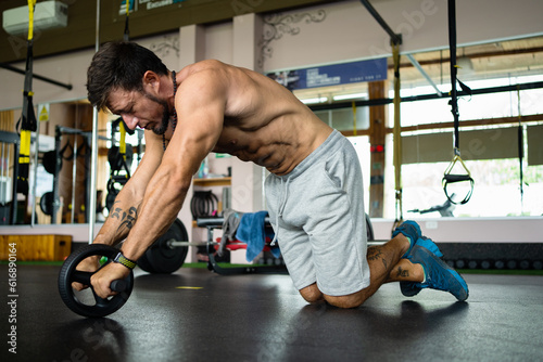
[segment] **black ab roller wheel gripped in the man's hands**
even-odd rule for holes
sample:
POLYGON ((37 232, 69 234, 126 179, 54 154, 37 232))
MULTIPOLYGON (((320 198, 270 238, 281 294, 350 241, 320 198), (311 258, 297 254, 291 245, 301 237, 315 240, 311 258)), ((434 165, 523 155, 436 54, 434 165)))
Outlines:
POLYGON ((81 247, 66 258, 59 274, 59 293, 62 301, 64 301, 67 308, 83 316, 99 318, 109 315, 124 306, 134 287, 134 273, 131 271, 126 279, 112 283, 112 289, 118 292, 118 294, 109 299, 98 297, 92 287, 89 287, 92 293, 92 298, 87 298, 90 300, 83 300, 84 298, 78 295, 79 292, 72 288, 73 282, 90 285, 90 277, 93 274, 92 272, 76 270, 79 262, 90 256, 101 256, 109 259, 105 262, 108 263, 111 262, 117 254, 118 249, 114 247, 91 244, 81 247))

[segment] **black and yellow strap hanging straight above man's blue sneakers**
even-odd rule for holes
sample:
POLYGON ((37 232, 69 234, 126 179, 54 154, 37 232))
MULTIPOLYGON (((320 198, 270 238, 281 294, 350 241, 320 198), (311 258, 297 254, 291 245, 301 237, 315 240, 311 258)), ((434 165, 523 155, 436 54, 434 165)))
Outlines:
POLYGON ((392 44, 394 62, 394 183, 395 183, 395 221, 393 230, 403 221, 402 211, 402 125, 400 121, 400 44, 392 44))

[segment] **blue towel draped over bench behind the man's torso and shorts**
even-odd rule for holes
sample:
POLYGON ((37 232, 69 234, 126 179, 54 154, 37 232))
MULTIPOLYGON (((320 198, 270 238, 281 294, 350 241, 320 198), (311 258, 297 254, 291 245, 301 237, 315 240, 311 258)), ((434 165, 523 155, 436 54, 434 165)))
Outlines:
MULTIPOLYGON (((262 253, 266 244, 266 236, 274 237, 273 231, 266 231, 265 219, 268 211, 248 212, 241 216, 241 221, 236 233, 236 238, 247 244, 247 261, 253 261, 262 253)), ((278 247, 272 248, 276 258, 281 255, 278 247)))

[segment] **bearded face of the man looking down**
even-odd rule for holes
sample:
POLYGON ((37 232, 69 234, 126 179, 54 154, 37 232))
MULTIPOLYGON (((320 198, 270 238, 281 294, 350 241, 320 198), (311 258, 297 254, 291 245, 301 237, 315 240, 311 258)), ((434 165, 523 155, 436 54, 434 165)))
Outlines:
POLYGON ((119 115, 130 129, 150 129, 164 134, 169 122, 169 106, 166 100, 143 91, 114 90, 109 96, 111 113, 119 115))

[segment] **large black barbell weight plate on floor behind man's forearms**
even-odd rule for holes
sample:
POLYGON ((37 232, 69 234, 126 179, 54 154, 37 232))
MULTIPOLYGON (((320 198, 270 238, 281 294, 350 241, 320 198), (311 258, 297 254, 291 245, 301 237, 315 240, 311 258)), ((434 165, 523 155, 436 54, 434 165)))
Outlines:
POLYGON ((189 250, 188 246, 171 247, 169 242, 187 242, 189 235, 181 220, 176 219, 138 260, 138 266, 149 273, 169 274, 181 268, 189 250))

